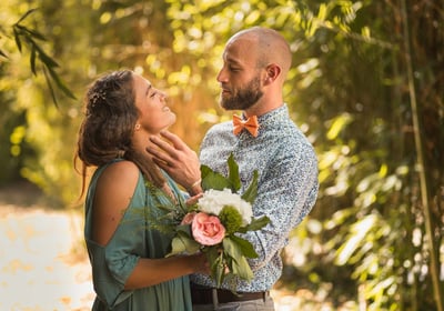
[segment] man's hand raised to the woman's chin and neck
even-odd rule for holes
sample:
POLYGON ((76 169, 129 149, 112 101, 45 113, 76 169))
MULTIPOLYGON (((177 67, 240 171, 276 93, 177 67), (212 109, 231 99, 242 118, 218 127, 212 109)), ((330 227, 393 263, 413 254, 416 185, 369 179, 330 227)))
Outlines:
POLYGON ((153 161, 191 194, 201 192, 198 154, 178 136, 169 131, 162 131, 161 136, 164 140, 155 136, 150 137, 150 141, 159 148, 147 148, 153 156, 153 161))

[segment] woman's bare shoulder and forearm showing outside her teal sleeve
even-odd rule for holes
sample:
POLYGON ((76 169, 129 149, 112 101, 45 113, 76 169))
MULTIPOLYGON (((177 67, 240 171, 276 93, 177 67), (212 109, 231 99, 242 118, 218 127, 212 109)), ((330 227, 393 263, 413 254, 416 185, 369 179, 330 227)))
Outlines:
MULTIPOLYGON (((114 234, 139 179, 138 167, 130 161, 111 164, 100 177, 94 203, 92 239, 107 245, 114 234)), ((208 272, 204 254, 171 257, 163 259, 140 258, 127 279, 124 288, 139 289, 155 285, 194 272, 208 272)))

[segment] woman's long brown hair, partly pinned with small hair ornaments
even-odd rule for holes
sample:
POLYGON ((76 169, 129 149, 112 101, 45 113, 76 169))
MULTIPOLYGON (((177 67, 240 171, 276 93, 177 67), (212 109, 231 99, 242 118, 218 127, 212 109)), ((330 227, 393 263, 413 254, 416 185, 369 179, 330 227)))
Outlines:
POLYGON ((119 70, 104 74, 88 89, 84 119, 80 126, 78 159, 82 162, 82 188, 85 190, 88 167, 101 167, 114 159, 134 162, 144 177, 162 187, 164 178, 147 152, 133 150, 131 138, 139 118, 133 88, 133 72, 119 70))

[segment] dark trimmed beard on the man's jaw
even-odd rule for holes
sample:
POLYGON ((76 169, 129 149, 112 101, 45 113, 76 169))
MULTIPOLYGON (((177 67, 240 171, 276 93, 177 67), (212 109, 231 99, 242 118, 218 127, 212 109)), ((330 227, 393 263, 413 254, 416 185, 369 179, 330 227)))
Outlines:
POLYGON ((239 89, 230 98, 224 98, 221 94, 220 103, 223 109, 226 110, 246 110, 255 104, 263 92, 260 90, 261 80, 259 77, 253 78, 245 88, 239 89))

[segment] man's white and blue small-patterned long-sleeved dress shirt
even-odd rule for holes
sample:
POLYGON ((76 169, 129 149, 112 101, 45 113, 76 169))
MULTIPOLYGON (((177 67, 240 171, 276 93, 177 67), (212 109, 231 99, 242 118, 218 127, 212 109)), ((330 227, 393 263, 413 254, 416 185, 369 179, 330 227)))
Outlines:
MULTIPOLYGON (((204 137, 200 160, 214 171, 228 175, 230 153, 239 164, 241 193, 258 170, 258 197, 254 218, 268 215, 270 223, 243 235, 252 242, 259 258, 249 260, 254 273, 251 282, 239 280, 239 292, 270 290, 282 273, 281 250, 290 231, 310 212, 317 197, 317 159, 313 147, 290 119, 286 104, 258 118, 259 136, 246 130, 233 134, 231 121, 215 124, 204 137)), ((191 275, 192 282, 214 283, 206 275, 191 275)), ((229 289, 225 283, 223 288, 229 289)))

